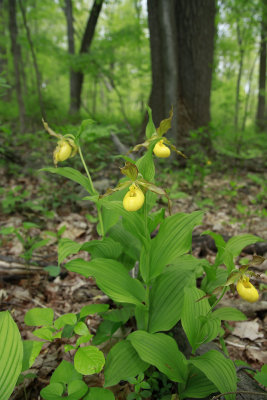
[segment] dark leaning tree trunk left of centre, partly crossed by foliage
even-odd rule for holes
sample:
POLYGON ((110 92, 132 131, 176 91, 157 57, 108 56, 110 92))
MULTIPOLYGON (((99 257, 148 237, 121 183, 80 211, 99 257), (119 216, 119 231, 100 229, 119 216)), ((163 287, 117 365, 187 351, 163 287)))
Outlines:
MULTIPOLYGON (((96 29, 96 24, 97 20, 102 8, 104 0, 95 0, 90 16, 88 18, 86 28, 84 31, 84 35, 82 38, 82 43, 80 47, 80 55, 87 53, 96 29)), ((72 28, 73 29, 73 28, 72 28)), ((69 31, 68 31, 69 32, 69 31)), ((69 41, 71 40, 68 39, 69 41)), ((71 53, 72 54, 72 53, 71 53)), ((82 71, 73 71, 72 75, 72 92, 71 92, 71 99, 70 99, 70 112, 72 114, 75 114, 79 112, 80 107, 81 107, 81 95, 82 95, 82 86, 83 86, 83 80, 84 80, 84 73, 82 71)))

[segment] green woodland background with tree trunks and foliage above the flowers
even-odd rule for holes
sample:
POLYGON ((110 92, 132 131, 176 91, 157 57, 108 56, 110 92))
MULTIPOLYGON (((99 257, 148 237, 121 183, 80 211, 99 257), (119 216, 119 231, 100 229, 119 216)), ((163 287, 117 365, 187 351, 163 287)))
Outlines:
POLYGON ((266 7, 266 0, 1 0, 5 145, 13 132, 40 130, 42 116, 56 125, 89 117, 133 143, 149 104, 156 125, 174 107, 171 135, 181 148, 193 134, 208 153, 266 149, 266 7))

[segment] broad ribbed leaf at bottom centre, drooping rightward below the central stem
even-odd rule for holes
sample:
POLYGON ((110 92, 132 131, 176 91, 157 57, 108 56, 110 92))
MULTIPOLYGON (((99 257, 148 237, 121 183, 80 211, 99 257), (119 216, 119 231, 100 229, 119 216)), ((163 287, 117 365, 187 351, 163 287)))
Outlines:
POLYGON ((164 333, 135 331, 128 340, 143 361, 157 367, 174 382, 185 381, 187 361, 173 338, 164 333))

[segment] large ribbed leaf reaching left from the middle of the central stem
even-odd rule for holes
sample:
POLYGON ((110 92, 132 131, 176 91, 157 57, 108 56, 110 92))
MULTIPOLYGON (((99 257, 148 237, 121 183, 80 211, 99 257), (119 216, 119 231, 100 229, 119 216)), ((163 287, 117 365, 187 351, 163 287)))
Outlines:
POLYGON ((82 259, 66 264, 69 271, 86 277, 93 276, 97 285, 114 301, 142 306, 145 289, 140 281, 130 277, 122 264, 106 258, 95 258, 88 262, 82 259))

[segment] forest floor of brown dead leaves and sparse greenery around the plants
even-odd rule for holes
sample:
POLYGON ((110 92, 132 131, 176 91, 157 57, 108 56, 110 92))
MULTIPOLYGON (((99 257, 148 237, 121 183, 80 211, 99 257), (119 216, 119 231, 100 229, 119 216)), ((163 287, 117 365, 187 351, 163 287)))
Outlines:
MULTIPOLYGON (((99 173, 100 190, 113 186, 106 177, 110 171, 99 173)), ((203 183, 198 180, 188 183, 186 175, 179 173, 165 174, 165 186, 171 187, 170 196, 173 212, 205 211, 203 224, 194 232, 199 238, 205 230, 212 230, 227 238, 237 234, 252 233, 267 239, 266 213, 266 172, 254 173, 245 169, 231 170, 225 173, 212 172, 205 176, 203 183), (179 184, 177 182, 179 181, 179 184)), ((0 235, 0 304, 1 310, 9 310, 18 324, 23 339, 33 339, 32 330, 24 324, 24 315, 33 307, 51 307, 58 317, 68 312, 79 310, 90 303, 107 302, 108 299, 96 287, 93 279, 86 279, 71 272, 64 272, 51 277, 44 270, 47 266, 57 266, 56 233, 62 228, 61 237, 83 243, 97 238, 96 214, 93 207, 79 200, 79 190, 73 190, 73 183, 64 178, 44 178, 44 174, 21 174, 0 169, 2 182, 2 211, 0 229, 15 227, 26 237, 49 239, 49 243, 37 249, 30 262, 25 266, 21 258, 24 249, 18 238, 13 235, 0 235), (78 200, 76 203, 75 201, 78 200), (23 230, 23 223, 35 223, 37 227, 23 230), (51 236, 54 232, 54 236, 51 236)), ((83 194, 82 194, 83 196, 83 194)), ((263 256, 267 257, 267 246, 262 247, 263 256)), ((251 253, 251 252, 250 252, 251 253)), ((193 254, 206 257, 210 262, 215 259, 214 248, 198 240, 193 240, 193 254)), ((88 253, 79 257, 88 258, 88 253)), ((251 258, 244 251, 241 257, 251 258)), ((222 305, 231 305, 243 311, 247 321, 225 324, 225 343, 233 360, 242 360, 253 368, 259 369, 267 363, 267 261, 257 267, 260 276, 253 283, 261 289, 261 301, 250 304, 241 301, 236 294, 227 293, 222 305)), ((97 315, 88 318, 88 327, 94 334, 100 318, 97 315)), ((110 343, 108 343, 110 345, 110 343)), ((105 348, 104 348, 105 350, 105 348)), ((40 389, 49 383, 49 377, 62 357, 68 359, 63 344, 48 343, 44 346, 31 371, 37 378, 26 381, 28 399, 38 399, 40 389)), ((102 374, 88 377, 90 386, 101 386, 102 374)), ((114 388, 116 398, 124 400, 131 387, 117 385, 114 388)), ((13 400, 24 399, 24 388, 18 387, 13 400)))

